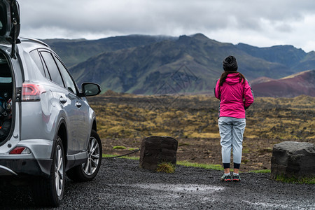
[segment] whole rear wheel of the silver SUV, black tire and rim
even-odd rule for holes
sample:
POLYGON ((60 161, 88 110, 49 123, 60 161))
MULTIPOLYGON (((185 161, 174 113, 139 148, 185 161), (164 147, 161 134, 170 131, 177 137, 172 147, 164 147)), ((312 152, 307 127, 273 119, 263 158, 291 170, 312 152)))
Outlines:
POLYGON ((40 178, 34 183, 33 194, 37 204, 58 207, 64 195, 64 147, 57 137, 52 153, 52 166, 48 178, 40 178))

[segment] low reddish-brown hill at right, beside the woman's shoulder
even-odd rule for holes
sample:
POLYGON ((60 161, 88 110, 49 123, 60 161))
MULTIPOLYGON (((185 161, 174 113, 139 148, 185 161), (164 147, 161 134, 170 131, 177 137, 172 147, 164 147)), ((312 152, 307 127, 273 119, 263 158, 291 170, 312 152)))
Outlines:
POLYGON ((256 80, 252 88, 258 97, 297 97, 301 94, 315 97, 315 70, 302 71, 278 80, 256 80))

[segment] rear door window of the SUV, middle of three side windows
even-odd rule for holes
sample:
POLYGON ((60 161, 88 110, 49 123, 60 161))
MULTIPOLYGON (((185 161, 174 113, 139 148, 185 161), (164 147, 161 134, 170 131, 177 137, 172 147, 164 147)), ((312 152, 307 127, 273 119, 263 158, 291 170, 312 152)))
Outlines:
POLYGON ((43 57, 45 66, 48 69, 51 80, 64 87, 62 76, 60 75, 55 59, 52 57, 51 53, 47 51, 41 51, 41 56, 43 57))

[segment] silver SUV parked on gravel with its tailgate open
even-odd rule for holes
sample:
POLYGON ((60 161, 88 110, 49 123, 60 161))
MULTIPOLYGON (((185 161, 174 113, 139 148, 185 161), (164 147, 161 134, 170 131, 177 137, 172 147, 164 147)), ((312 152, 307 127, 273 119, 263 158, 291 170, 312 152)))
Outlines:
POLYGON ((19 6, 0 0, 0 185, 31 183, 34 200, 58 206, 65 175, 90 181, 102 143, 94 111, 62 60, 45 43, 18 37, 19 6), (35 178, 35 179, 32 179, 35 178))

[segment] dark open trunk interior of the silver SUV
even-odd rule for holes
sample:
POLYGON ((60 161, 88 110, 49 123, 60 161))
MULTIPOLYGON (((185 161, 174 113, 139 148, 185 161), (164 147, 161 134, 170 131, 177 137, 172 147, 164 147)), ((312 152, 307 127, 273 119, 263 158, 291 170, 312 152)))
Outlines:
POLYGON ((13 76, 7 58, 0 51, 0 145, 12 128, 13 76))

